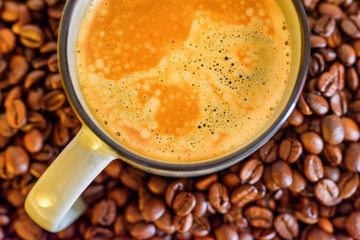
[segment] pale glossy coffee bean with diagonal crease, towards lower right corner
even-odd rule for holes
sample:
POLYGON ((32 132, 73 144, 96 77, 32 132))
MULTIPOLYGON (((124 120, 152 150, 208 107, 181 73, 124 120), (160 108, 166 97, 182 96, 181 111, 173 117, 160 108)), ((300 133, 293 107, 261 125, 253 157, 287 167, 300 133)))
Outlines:
MULTIPOLYGON (((320 180, 314 188, 316 198, 324 205, 332 204, 339 197, 339 188, 330 179, 320 180)), ((331 206, 331 205, 329 205, 331 206)))

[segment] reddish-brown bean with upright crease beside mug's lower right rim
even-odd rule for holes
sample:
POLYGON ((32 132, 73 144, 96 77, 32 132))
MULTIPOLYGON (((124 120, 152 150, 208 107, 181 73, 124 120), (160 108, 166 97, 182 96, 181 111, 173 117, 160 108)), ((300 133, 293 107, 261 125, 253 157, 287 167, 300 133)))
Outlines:
POLYGON ((302 145, 295 138, 286 138, 279 145, 279 157, 289 164, 296 162, 302 152, 302 145))

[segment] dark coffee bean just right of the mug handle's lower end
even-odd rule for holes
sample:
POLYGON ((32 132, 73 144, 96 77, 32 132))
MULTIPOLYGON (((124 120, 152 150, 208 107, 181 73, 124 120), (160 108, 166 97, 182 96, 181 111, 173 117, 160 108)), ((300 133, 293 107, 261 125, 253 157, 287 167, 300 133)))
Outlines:
POLYGON ((95 204, 92 210, 91 222, 102 226, 110 226, 116 218, 116 203, 114 200, 102 200, 95 204))

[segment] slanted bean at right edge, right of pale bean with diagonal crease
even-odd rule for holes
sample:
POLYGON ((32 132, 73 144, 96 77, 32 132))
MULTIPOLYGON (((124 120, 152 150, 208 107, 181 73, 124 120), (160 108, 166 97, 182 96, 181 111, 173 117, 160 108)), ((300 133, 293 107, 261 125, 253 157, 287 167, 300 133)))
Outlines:
POLYGON ((337 183, 339 186, 341 199, 350 198, 359 186, 359 174, 353 172, 344 172, 341 174, 340 180, 337 183))

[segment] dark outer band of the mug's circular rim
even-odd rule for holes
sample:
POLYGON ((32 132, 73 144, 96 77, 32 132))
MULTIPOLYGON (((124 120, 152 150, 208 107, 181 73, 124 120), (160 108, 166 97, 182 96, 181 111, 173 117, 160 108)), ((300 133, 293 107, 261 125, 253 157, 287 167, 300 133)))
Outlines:
POLYGON ((139 168, 142 168, 146 171, 157 173, 160 175, 167 176, 199 176, 210 174, 216 171, 223 170, 227 167, 230 167, 239 161, 245 159, 250 154, 259 149, 264 145, 282 126, 282 124, 289 117, 291 112, 296 106, 297 100, 300 97, 302 89, 305 84, 306 75, 308 72, 309 61, 310 61, 310 31, 307 24, 307 15, 305 9, 302 5, 301 0, 292 0, 295 9, 297 11, 300 27, 301 27, 301 37, 302 37, 302 59, 300 61, 300 69, 298 77, 291 93, 291 96, 288 100, 288 103, 282 110, 279 117, 275 122, 267 129, 259 138, 247 145, 246 147, 228 155, 223 158, 219 158, 214 161, 202 162, 202 163, 189 163, 189 164, 178 164, 174 163, 164 163, 156 162, 150 159, 141 157, 132 152, 127 151, 118 145, 115 141, 108 138, 102 131, 99 129, 96 124, 91 120, 91 118, 86 114, 86 111, 82 107, 76 91, 73 87, 70 71, 68 65, 68 36, 69 36, 69 26, 71 23, 71 18, 73 15, 74 6, 79 0, 67 1, 64 7, 64 13, 60 23, 59 31, 59 41, 58 41, 58 54, 59 54, 59 68, 60 74, 62 76, 62 82, 67 95, 67 99, 70 102, 70 105, 85 124, 95 135, 100 138, 104 143, 106 143, 111 148, 115 149, 120 158, 128 162, 129 164, 135 165, 139 168))

